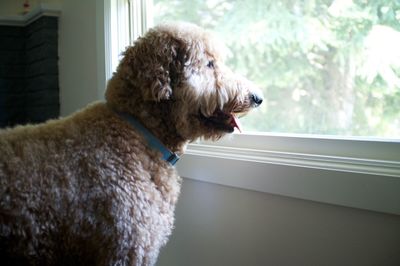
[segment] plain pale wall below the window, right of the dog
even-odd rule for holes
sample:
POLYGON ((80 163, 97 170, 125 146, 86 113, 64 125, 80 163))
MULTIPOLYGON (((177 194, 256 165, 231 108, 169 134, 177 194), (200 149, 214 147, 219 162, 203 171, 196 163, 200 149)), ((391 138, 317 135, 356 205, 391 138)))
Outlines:
POLYGON ((158 266, 400 265, 400 216, 185 179, 158 266))

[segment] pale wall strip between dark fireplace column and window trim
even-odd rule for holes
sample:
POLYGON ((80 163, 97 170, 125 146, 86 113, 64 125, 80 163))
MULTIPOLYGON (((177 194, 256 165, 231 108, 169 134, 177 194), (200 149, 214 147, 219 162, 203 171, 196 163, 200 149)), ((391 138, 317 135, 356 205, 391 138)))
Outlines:
POLYGON ((64 0, 59 24, 61 115, 104 93, 103 1, 64 0))

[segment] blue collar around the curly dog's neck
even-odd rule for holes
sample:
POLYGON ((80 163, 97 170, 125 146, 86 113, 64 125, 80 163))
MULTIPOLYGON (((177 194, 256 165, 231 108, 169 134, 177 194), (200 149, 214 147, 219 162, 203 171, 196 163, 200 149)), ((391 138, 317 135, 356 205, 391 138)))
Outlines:
POLYGON ((179 155, 170 151, 161 141, 156 138, 147 128, 145 128, 142 123, 137 121, 133 116, 127 113, 119 113, 118 115, 131 124, 134 128, 136 128, 146 139, 147 144, 150 148, 158 150, 162 153, 163 160, 169 162, 171 165, 175 165, 175 163, 179 160, 179 155))

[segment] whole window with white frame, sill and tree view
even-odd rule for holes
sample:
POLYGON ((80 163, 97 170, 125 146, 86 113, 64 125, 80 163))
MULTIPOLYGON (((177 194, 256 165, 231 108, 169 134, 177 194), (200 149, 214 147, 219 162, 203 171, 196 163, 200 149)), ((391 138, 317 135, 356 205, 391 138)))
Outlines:
POLYGON ((164 20, 215 31, 232 51, 228 64, 265 89, 264 109, 243 121, 252 132, 189 145, 182 176, 400 214, 394 1, 107 1, 121 4, 111 21, 129 20, 111 27, 120 35, 164 20))

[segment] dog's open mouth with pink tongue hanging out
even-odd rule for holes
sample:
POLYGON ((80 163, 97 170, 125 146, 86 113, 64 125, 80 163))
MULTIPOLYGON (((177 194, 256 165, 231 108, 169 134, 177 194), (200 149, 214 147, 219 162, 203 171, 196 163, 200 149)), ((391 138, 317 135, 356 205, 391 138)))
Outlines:
POLYGON ((239 121, 240 113, 226 113, 217 110, 211 116, 205 116, 200 112, 200 120, 207 126, 217 130, 232 133, 235 128, 242 132, 242 126, 239 121))

